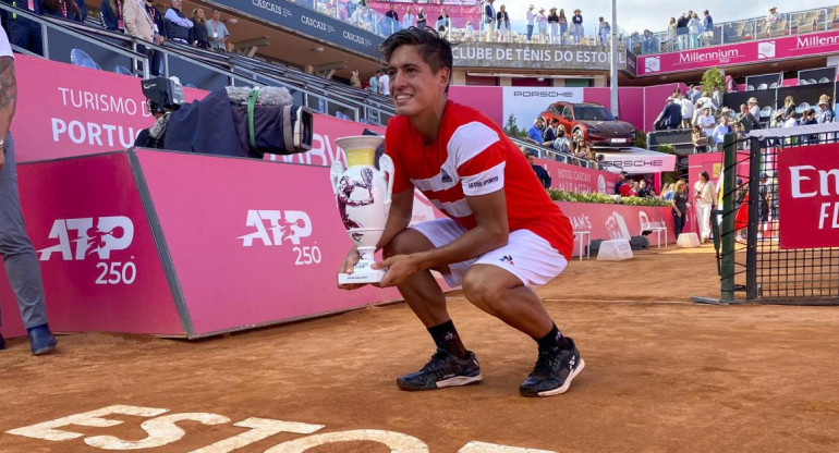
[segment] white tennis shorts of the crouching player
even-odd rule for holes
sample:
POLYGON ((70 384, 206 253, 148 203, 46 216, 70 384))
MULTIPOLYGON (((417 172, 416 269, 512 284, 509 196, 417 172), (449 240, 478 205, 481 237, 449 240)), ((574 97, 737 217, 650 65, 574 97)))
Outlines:
MULTIPOLYGON (((466 233, 460 223, 452 219, 436 219, 411 226, 422 233, 435 247, 441 247, 466 233)), ((530 230, 510 232, 507 245, 487 252, 476 258, 449 265, 449 272, 443 273, 446 283, 454 287, 463 283, 463 276, 472 265, 497 266, 518 277, 526 286, 535 287, 559 276, 568 266, 568 260, 542 236, 530 230)))

